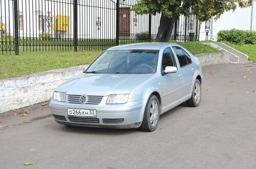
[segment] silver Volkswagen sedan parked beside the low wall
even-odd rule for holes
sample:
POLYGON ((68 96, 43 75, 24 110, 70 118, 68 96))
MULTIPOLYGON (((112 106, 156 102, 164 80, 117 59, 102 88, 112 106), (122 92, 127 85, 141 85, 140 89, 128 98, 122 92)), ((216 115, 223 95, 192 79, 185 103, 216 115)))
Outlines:
POLYGON ((199 60, 178 44, 114 46, 58 86, 50 108, 62 125, 154 131, 162 113, 199 106, 202 78, 199 60))

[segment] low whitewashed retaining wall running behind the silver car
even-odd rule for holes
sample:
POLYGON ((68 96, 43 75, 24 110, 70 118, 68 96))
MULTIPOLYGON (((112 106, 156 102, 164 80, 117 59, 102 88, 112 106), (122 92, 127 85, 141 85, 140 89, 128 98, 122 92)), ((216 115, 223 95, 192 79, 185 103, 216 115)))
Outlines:
MULTIPOLYGON (((196 55, 202 66, 229 63, 228 53, 196 55)), ((26 75, 20 78, 0 80, 0 113, 45 102, 51 99, 53 90, 67 79, 82 73, 83 66, 55 69, 26 75)))

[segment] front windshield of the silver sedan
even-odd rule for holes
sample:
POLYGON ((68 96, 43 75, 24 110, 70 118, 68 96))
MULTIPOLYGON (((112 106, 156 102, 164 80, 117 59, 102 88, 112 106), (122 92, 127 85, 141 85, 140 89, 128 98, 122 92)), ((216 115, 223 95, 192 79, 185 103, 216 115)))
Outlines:
POLYGON ((153 74, 157 68, 158 51, 105 51, 86 70, 98 74, 153 74))

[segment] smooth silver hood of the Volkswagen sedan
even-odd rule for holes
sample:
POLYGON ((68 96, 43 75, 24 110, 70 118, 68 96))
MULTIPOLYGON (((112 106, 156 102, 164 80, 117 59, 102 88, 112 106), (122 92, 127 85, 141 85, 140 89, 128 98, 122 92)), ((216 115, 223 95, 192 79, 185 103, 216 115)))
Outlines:
POLYGON ((152 76, 153 74, 82 74, 58 86, 55 91, 101 96, 130 93, 152 76))

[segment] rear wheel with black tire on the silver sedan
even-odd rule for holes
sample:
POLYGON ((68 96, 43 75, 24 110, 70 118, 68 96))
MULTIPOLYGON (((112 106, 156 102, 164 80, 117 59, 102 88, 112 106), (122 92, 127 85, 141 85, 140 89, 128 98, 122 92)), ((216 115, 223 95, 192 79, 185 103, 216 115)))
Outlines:
POLYGON ((194 88, 191 94, 191 98, 186 101, 187 106, 189 107, 197 107, 201 102, 201 83, 198 79, 196 79, 194 88))

